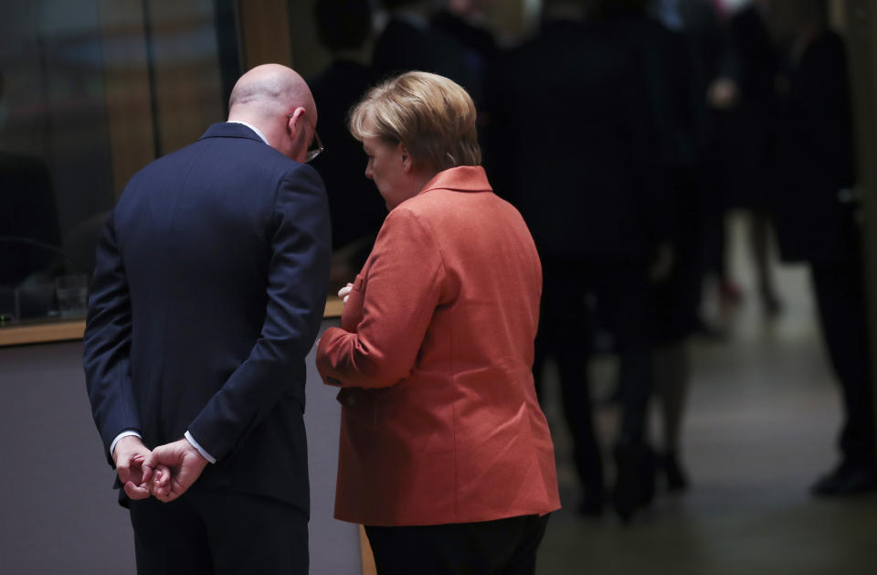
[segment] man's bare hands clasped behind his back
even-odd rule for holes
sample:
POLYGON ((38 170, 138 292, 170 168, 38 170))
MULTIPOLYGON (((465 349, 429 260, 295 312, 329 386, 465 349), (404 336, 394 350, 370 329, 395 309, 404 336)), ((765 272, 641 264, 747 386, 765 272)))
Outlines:
POLYGON ((153 495, 164 503, 183 495, 207 464, 185 439, 150 451, 139 437, 123 437, 116 443, 112 458, 125 494, 135 500, 153 495))

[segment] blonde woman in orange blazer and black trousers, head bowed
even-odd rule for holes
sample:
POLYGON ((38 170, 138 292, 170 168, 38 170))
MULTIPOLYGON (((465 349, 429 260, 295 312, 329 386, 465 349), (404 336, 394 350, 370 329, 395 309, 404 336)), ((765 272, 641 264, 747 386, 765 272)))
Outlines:
POLYGON ((335 516, 365 525, 381 575, 533 573, 560 506, 533 384, 533 239, 493 194, 451 80, 387 80, 350 129, 390 212, 317 351, 342 388, 335 516))

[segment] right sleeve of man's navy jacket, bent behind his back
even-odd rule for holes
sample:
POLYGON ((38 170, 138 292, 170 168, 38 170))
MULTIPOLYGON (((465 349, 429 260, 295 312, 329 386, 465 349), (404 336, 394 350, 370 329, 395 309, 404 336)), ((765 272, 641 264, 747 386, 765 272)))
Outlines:
POLYGON ((265 323, 249 357, 189 425, 217 460, 232 453, 283 394, 304 409, 307 356, 320 329, 331 261, 325 188, 309 165, 280 183, 273 212, 265 323))

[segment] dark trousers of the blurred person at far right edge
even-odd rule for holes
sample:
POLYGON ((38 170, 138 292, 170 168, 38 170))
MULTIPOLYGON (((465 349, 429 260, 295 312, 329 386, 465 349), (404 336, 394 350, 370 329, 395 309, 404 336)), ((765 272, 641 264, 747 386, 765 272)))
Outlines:
POLYGON ((874 408, 861 261, 812 264, 819 322, 843 391, 843 463, 875 469, 874 408))

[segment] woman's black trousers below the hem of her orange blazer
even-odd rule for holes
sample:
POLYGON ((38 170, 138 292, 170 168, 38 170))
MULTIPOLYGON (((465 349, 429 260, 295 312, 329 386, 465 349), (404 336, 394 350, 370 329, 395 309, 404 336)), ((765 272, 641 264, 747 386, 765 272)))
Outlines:
POLYGON ((548 516, 412 527, 366 526, 378 575, 533 575, 548 516))

